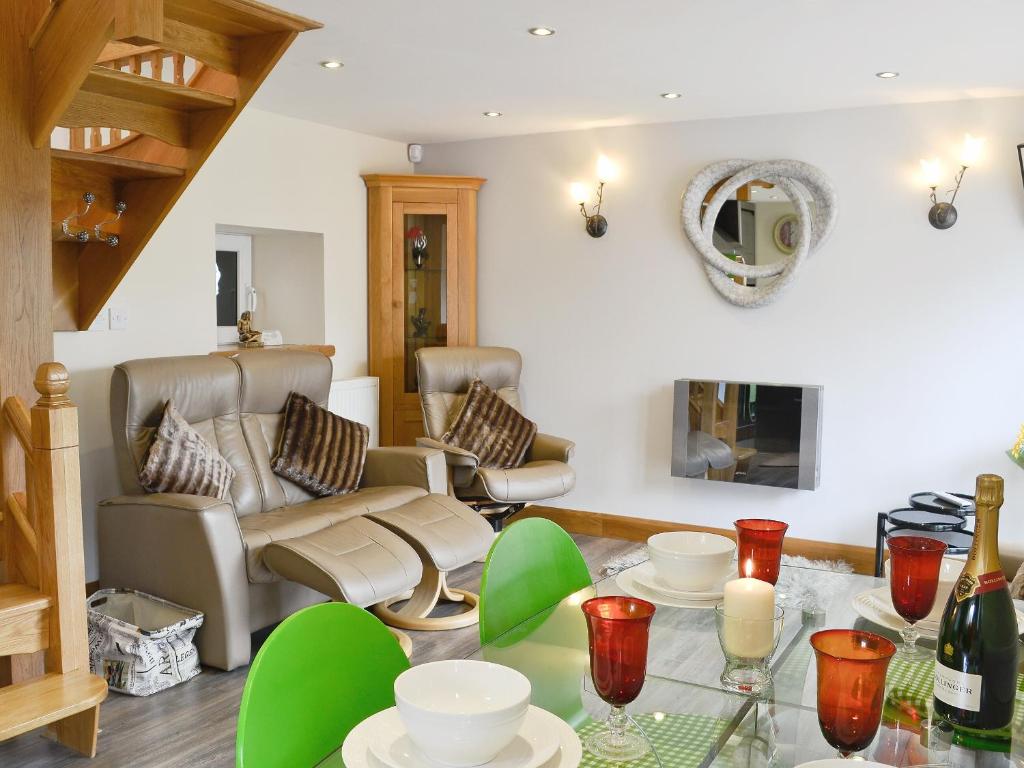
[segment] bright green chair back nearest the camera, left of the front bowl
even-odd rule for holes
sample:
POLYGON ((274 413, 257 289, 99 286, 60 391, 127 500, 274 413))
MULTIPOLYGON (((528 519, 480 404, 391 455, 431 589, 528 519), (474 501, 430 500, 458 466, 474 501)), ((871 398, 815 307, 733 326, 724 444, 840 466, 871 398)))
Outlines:
POLYGON ((312 768, 394 706, 395 678, 408 669, 397 640, 362 608, 332 602, 293 613, 249 669, 237 768, 312 768))

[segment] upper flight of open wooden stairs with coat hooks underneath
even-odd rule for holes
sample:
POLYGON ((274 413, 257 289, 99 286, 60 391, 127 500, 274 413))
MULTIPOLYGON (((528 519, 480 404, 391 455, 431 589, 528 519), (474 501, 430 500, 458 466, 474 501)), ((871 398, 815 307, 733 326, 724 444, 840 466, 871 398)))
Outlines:
POLYGON ((52 145, 54 330, 92 324, 282 54, 318 27, 254 0, 50 5, 33 40, 32 138, 52 145), (96 195, 85 227, 127 203, 103 229, 118 236, 116 247, 63 234, 59 222, 85 191, 96 195))

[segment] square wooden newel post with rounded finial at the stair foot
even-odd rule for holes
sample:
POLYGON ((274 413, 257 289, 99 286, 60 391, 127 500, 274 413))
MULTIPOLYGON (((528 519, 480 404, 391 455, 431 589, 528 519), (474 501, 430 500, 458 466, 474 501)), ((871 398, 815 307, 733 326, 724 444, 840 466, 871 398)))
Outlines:
POLYGON ((32 495, 39 531, 39 591, 53 599, 46 671, 87 669, 85 555, 78 409, 59 362, 36 371, 39 399, 32 408, 32 495))

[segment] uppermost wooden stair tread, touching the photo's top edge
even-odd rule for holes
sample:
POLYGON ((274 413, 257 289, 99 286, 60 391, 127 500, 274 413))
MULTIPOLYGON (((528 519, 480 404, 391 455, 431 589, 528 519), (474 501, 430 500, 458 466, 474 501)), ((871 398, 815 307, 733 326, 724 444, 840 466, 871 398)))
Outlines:
POLYGON ((164 15, 232 37, 307 32, 323 27, 318 22, 255 0, 165 0, 164 15))

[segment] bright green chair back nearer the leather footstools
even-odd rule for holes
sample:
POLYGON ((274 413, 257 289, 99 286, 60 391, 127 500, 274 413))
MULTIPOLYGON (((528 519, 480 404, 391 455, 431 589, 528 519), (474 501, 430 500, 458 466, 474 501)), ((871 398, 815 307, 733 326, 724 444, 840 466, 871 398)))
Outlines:
POLYGON ((572 537, 551 520, 510 525, 490 547, 480 580, 480 644, 593 584, 572 537))

